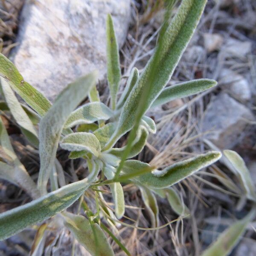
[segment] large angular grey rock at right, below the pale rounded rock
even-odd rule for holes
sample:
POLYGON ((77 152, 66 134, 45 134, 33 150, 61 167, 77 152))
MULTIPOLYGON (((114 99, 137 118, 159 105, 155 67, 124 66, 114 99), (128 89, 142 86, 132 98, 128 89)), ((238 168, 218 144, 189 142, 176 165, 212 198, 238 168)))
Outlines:
POLYGON ((233 148, 247 125, 246 119, 254 120, 251 111, 235 99, 220 93, 207 106, 202 123, 205 137, 221 149, 233 148))

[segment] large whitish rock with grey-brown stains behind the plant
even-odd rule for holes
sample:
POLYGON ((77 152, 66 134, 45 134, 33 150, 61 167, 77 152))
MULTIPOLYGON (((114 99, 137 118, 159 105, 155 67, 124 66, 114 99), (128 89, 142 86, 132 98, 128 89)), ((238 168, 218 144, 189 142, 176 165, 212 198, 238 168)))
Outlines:
POLYGON ((77 77, 106 73, 105 20, 111 13, 119 46, 125 41, 130 0, 27 1, 13 61, 24 79, 51 101, 77 77))

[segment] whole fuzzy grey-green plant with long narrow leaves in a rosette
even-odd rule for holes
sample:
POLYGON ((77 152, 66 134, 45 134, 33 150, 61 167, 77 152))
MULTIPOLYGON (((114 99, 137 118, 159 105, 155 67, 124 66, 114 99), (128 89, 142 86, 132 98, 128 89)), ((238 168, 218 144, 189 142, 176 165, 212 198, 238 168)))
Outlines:
MULTIPOLYGON (((49 218, 61 218, 73 236, 92 255, 114 255, 104 233, 108 233, 125 253, 128 251, 102 222, 109 226, 118 222, 125 212, 123 181, 135 183, 142 192, 151 223, 158 225, 158 207, 155 194, 167 197, 175 212, 187 214, 188 209, 172 185, 209 166, 221 157, 218 151, 209 151, 175 163, 163 170, 157 166, 131 158, 139 154, 149 133, 156 132, 154 121, 145 116, 149 108, 171 100, 200 93, 216 85, 216 81, 198 79, 166 87, 172 73, 203 13, 206 0, 183 0, 175 17, 165 20, 154 54, 141 74, 134 67, 117 100, 121 69, 113 21, 106 21, 107 78, 111 107, 100 102, 96 89, 97 72, 83 76, 69 84, 51 104, 32 85, 24 81, 17 68, 0 55, 1 88, 4 101, 2 111, 10 111, 29 143, 39 149, 40 171, 37 184, 18 160, 6 128, 0 122, 0 177, 20 186, 32 198, 28 204, 0 214, 0 239, 6 239, 28 226, 49 218), (16 92, 27 105, 18 102, 16 92), (79 104, 89 97, 90 102, 79 104), (116 142, 129 132, 127 144, 116 148, 116 142), (58 147, 70 151, 69 158, 84 158, 89 175, 83 180, 66 184, 64 172, 56 159, 58 147), (50 187, 47 186, 48 182, 50 187), (114 210, 104 204, 100 186, 109 185, 114 210), (97 212, 83 200, 84 192, 94 189, 97 212), (80 198, 86 217, 65 209, 80 198), (104 230, 104 231, 103 231, 104 230)), ((49 223, 49 221, 47 222, 49 223)), ((60 224, 59 224, 60 225, 60 224)), ((44 233, 41 226, 38 233, 44 233)), ((43 236, 36 236, 33 246, 38 255, 43 236)))

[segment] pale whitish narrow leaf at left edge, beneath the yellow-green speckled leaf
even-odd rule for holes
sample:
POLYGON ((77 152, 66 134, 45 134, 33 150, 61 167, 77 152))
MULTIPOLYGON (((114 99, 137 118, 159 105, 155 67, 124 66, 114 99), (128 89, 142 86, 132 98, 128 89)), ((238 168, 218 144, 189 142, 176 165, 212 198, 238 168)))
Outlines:
POLYGON ((38 132, 36 131, 32 121, 21 107, 20 102, 17 100, 14 92, 12 91, 12 88, 9 86, 9 83, 3 78, 1 78, 0 81, 4 97, 12 113, 12 116, 14 117, 17 124, 20 125, 20 128, 22 128, 23 131, 25 130, 24 135, 27 135, 26 137, 29 142, 35 146, 38 146, 38 132))

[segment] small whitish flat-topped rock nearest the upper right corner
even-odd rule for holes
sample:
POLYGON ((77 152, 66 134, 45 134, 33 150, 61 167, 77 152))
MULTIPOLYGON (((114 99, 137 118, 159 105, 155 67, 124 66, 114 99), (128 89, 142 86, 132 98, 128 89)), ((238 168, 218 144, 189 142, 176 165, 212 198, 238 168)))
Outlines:
POLYGON ((246 41, 242 42, 240 40, 229 38, 222 47, 222 51, 226 54, 235 57, 245 57, 248 53, 251 52, 252 42, 246 41))

